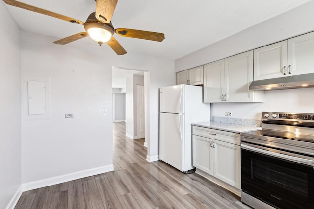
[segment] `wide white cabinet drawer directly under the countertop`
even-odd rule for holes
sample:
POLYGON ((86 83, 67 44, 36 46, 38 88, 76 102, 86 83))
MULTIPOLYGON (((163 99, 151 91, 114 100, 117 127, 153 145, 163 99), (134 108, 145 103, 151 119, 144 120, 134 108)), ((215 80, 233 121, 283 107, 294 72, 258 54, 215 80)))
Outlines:
POLYGON ((210 139, 217 139, 227 143, 240 145, 240 134, 229 131, 221 131, 211 128, 204 128, 199 126, 192 126, 193 135, 206 137, 210 139))

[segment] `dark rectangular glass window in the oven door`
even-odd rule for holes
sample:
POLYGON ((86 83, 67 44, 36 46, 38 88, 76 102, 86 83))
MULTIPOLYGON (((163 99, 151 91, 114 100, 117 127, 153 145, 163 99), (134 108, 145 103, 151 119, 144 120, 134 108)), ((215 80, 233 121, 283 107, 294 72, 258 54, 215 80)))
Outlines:
POLYGON ((265 181, 308 198, 308 174, 281 165, 251 159, 252 180, 265 181))

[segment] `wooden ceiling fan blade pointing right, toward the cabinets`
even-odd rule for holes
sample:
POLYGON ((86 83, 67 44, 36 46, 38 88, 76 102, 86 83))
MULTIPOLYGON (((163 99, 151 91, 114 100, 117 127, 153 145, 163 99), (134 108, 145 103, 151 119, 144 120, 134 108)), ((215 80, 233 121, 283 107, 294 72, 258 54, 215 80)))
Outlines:
POLYGON ((115 30, 116 34, 119 36, 125 36, 130 38, 137 39, 146 39, 151 41, 162 42, 165 39, 165 35, 163 33, 156 33, 144 30, 133 30, 127 28, 117 28, 115 30))

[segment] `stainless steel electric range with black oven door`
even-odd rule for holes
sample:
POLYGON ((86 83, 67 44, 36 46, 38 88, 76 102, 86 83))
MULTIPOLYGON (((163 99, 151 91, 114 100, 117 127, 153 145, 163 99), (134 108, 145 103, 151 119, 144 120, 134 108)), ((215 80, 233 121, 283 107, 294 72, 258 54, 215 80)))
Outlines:
POLYGON ((241 133, 241 189, 256 209, 314 209, 314 113, 263 112, 241 133))

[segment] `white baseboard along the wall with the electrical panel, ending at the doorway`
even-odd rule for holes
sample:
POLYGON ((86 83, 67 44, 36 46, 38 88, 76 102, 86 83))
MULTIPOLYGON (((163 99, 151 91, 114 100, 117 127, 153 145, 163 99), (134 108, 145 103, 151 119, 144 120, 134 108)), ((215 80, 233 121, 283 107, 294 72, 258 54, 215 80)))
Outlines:
POLYGON ((94 175, 98 175, 101 173, 106 173, 106 172, 113 171, 113 170, 114 170, 113 165, 111 164, 111 165, 102 166, 102 167, 98 167, 98 168, 93 168, 93 169, 83 170, 83 171, 79 171, 79 172, 75 172, 75 173, 69 173, 69 174, 65 174, 65 175, 61 175, 61 176, 56 176, 56 177, 52 177, 52 178, 48 178, 48 179, 43 179, 43 180, 39 180, 39 181, 28 182, 28 183, 22 184, 22 191, 28 191, 28 190, 32 190, 32 189, 45 187, 45 186, 56 185, 56 184, 60 184, 63 182, 68 182, 68 181, 72 181, 72 180, 76 180, 76 179, 85 178, 88 176, 94 176, 94 175))

